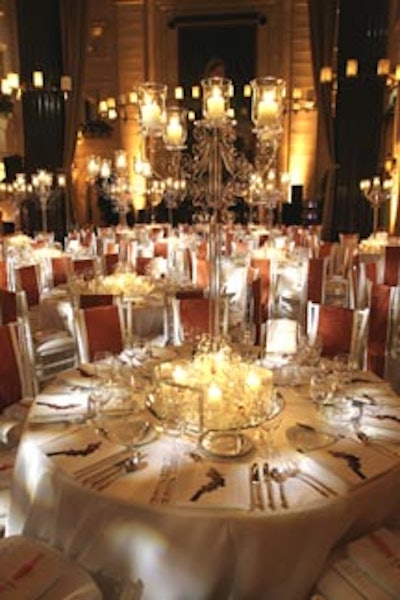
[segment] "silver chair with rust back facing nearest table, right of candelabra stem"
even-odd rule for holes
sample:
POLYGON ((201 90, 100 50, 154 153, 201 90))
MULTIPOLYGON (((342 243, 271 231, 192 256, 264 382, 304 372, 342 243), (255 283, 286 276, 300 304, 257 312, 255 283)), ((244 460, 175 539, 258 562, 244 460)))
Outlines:
POLYGON ((307 303, 307 335, 311 343, 321 339, 322 356, 347 354, 358 368, 365 367, 369 308, 307 303))

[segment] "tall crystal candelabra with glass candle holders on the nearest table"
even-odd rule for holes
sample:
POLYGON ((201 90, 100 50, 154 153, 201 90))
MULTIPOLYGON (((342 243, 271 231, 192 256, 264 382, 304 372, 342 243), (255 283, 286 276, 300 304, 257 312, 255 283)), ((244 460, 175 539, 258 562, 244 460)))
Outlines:
MULTIPOLYGON (((159 178, 154 165, 154 139, 162 138, 175 161, 173 179, 185 179, 195 207, 209 220, 210 337, 214 349, 220 337, 221 225, 238 197, 249 197, 251 178, 258 176, 268 193, 264 203, 278 202, 277 186, 268 187, 267 173, 276 168, 282 133, 285 84, 283 80, 262 77, 251 82, 252 121, 257 138, 257 158, 252 164, 237 149, 236 121, 230 108, 233 84, 230 79, 210 77, 201 81, 202 118, 193 124, 192 156, 183 156, 186 129, 182 111, 166 107, 166 87, 144 84, 138 90, 138 107, 143 134, 150 140, 152 176, 159 178), (177 174, 180 174, 177 177, 177 174), (183 175, 183 177, 182 177, 183 175)), ((172 158, 171 158, 172 157, 172 158)), ((165 189, 165 188, 164 188, 165 189)), ((279 196, 281 198, 281 196, 279 196)))

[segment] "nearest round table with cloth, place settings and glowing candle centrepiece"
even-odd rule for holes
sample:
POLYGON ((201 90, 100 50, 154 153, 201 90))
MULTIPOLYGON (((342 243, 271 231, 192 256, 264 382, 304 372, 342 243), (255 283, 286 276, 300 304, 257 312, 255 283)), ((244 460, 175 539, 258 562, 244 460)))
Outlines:
MULTIPOLYGON (((293 598, 299 590, 305 597, 324 558, 345 533, 363 531, 372 521, 397 514, 399 398, 374 374, 343 372, 341 361, 326 359, 297 365, 304 374, 292 385, 289 372, 280 377, 282 367, 271 371, 243 357, 235 366, 230 355, 233 383, 228 388, 222 373, 215 376, 225 358, 210 348, 205 352, 201 344, 196 349, 189 344, 146 344, 114 356, 111 371, 98 361, 60 373, 30 408, 15 471, 13 493, 19 509, 10 516, 10 531, 40 527, 41 535, 73 544, 75 534, 70 538, 67 532, 78 527, 77 551, 101 579, 110 555, 89 541, 93 519, 106 519, 107 539, 102 535, 97 543, 109 550, 124 523, 136 535, 124 546, 121 560, 138 569, 149 598, 159 597, 163 589, 161 580, 152 576, 154 569, 170 578, 183 596, 190 595, 195 582, 193 597, 208 597, 222 578, 225 595, 240 589, 241 597, 262 597, 265 589, 276 594, 282 585, 277 561, 291 568, 301 560, 301 576, 285 584, 282 597, 293 598), (202 388, 211 394, 211 409, 210 398, 202 400, 199 393, 196 356, 206 369, 201 377, 211 373, 202 388), (245 375, 240 375, 242 361, 245 375), (345 410, 332 418, 325 410, 326 396, 314 396, 310 385, 318 372, 341 381, 333 389, 354 404, 357 418, 345 410), (251 395, 252 401, 242 406, 239 385, 250 382, 254 394, 262 377, 270 381, 270 391, 251 395), (96 393, 101 400, 93 402, 96 393), (174 395, 183 398, 181 404, 174 395), (260 406, 267 411, 264 417, 260 406), (268 406, 278 408, 268 414, 268 406), (210 432, 216 437, 205 443, 210 432), (33 487, 26 483, 33 483, 32 465, 33 487), (385 503, 379 502, 383 496, 388 498, 385 503), (44 498, 45 521, 40 518, 44 498), (87 507, 79 524, 69 508, 77 502, 87 507), (156 550, 160 536, 176 548, 173 563, 156 550), (82 545, 84 538, 88 541, 82 545), (213 560, 205 551, 210 544, 213 560), (141 558, 146 546, 153 549, 149 563, 141 558), (240 561, 245 547, 253 548, 248 568, 233 582, 231 561, 240 561), (318 560, 310 560, 315 547, 318 560), (268 565, 267 578, 259 568, 260 556, 268 565), (190 582, 184 557, 193 561, 190 582), (254 570, 257 575, 248 579, 254 570), (201 573, 207 573, 205 579, 201 573)), ((115 575, 119 593, 121 577, 115 575)))

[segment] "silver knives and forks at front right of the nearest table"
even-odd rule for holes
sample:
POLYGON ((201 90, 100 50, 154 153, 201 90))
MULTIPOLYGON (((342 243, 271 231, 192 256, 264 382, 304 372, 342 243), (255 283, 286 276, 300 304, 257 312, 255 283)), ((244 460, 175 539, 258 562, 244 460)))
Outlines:
POLYGON ((287 463, 282 467, 271 466, 267 461, 254 462, 249 467, 250 510, 271 510, 290 508, 286 490, 289 478, 296 478, 318 492, 324 498, 337 496, 338 493, 314 475, 301 471, 296 463, 287 463))

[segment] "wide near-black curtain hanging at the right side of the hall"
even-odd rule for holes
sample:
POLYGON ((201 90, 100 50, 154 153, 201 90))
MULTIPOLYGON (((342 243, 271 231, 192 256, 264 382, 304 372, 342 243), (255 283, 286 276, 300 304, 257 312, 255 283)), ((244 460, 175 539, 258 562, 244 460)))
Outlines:
POLYGON ((333 230, 372 230, 372 210, 360 193, 359 182, 382 173, 382 131, 385 78, 376 73, 386 56, 387 0, 341 2, 338 37, 338 95, 336 106, 336 156, 338 174, 333 230), (346 62, 357 58, 357 77, 345 77, 346 62))

